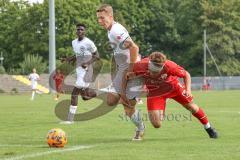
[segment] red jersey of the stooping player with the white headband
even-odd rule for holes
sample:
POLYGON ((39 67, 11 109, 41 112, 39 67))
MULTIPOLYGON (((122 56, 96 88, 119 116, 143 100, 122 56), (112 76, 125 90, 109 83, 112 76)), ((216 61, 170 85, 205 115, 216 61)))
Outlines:
POLYGON ((175 62, 167 60, 162 71, 157 76, 151 76, 148 70, 149 58, 144 58, 134 64, 133 72, 144 78, 148 96, 162 96, 173 93, 179 84, 178 78, 186 76, 186 70, 175 62))

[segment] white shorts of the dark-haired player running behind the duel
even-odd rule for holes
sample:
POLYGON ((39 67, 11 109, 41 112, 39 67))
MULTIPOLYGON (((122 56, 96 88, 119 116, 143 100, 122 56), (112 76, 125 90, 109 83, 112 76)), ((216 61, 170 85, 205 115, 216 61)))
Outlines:
MULTIPOLYGON (((90 80, 89 80, 89 76, 91 76, 91 68, 89 68, 89 70, 87 69, 83 69, 82 67, 77 67, 76 68, 76 72, 77 72, 77 81, 75 83, 75 87, 77 88, 87 88, 90 85, 90 80)), ((90 78, 91 79, 91 78, 90 78)))

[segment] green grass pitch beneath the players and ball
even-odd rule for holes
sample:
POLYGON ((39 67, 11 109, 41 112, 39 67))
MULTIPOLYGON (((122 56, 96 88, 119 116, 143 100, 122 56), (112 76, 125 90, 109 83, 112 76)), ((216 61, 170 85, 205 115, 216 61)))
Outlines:
MULTIPOLYGON (((160 129, 145 117, 146 104, 138 105, 147 128, 144 140, 133 142, 135 128, 123 117, 120 105, 102 117, 61 125, 52 95, 36 95, 35 101, 30 101, 30 95, 0 95, 0 160, 239 160, 240 91, 193 94, 219 139, 208 138, 201 124, 172 100, 166 109, 170 117, 160 129), (173 118, 176 115, 185 118, 173 118), (62 128, 68 135, 64 148, 48 147, 46 134, 51 128, 62 128)), ((91 110, 97 102, 79 101, 78 112, 91 110)))

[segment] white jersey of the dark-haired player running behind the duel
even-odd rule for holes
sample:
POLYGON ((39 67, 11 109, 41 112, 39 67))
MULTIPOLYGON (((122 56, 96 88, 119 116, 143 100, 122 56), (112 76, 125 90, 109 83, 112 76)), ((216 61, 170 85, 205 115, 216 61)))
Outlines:
POLYGON ((92 53, 97 51, 97 47, 89 38, 84 37, 81 41, 75 39, 72 41, 73 51, 76 55, 77 66, 92 59, 92 53))

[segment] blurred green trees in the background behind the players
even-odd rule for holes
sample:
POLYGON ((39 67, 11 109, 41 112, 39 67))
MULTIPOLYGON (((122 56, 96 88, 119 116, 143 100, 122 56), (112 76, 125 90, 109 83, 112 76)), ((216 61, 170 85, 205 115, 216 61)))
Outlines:
MULTIPOLYGON (((55 0, 57 59, 73 54, 75 24, 81 22, 101 58, 110 60, 107 32, 96 19, 101 3, 113 6, 116 21, 128 29, 143 56, 163 51, 193 76, 202 76, 206 29, 223 75, 240 75, 240 0, 55 0)), ((48 62, 48 0, 32 5, 0 0, 0 52, 7 72, 21 68, 28 55, 48 62)), ((210 58, 207 67, 208 75, 217 75, 210 58)))

